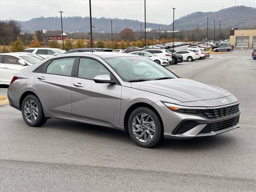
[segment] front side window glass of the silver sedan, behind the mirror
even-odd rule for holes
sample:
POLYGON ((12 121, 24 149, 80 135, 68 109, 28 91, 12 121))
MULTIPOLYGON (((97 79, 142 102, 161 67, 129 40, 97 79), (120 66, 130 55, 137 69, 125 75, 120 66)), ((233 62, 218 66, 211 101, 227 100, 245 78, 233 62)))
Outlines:
POLYGON ((96 60, 80 58, 78 77, 93 80, 97 75, 110 76, 110 72, 96 60))

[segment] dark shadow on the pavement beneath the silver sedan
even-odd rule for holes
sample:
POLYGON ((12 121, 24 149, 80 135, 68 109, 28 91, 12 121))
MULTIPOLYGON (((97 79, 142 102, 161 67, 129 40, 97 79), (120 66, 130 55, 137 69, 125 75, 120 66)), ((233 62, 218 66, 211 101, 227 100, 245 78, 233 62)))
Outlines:
MULTIPOLYGON (((106 128, 102 126, 94 126, 79 122, 70 122, 66 120, 50 119, 42 128, 58 129, 70 134, 84 134, 85 138, 98 138, 104 142, 112 140, 114 143, 120 142, 120 145, 129 145, 137 147, 131 140, 128 132, 106 128), (103 139, 102 139, 103 138, 103 139)), ((230 134, 220 134, 217 136, 193 138, 193 139, 164 139, 161 144, 156 146, 156 150, 212 150, 213 148, 225 149, 230 143, 236 143, 236 139, 230 134)))

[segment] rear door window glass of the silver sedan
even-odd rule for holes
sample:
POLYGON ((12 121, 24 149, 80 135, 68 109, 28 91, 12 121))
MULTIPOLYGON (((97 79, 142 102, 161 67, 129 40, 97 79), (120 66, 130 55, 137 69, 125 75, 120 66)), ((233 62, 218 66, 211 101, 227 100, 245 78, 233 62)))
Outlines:
POLYGON ((53 60, 46 68, 46 73, 71 76, 75 58, 53 60))

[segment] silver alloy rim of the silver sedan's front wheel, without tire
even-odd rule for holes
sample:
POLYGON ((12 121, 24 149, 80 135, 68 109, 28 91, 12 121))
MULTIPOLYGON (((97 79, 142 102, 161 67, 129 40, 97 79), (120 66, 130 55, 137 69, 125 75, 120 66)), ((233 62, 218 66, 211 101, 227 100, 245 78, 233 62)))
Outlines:
POLYGON ((132 132, 141 142, 149 142, 155 135, 155 122, 146 113, 137 114, 132 120, 132 132))

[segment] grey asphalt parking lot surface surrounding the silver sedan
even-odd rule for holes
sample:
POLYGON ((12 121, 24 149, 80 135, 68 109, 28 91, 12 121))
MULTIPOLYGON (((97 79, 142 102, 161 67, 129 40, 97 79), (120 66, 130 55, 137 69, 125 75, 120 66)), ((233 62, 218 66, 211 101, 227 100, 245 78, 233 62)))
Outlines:
POLYGON ((29 127, 20 111, 1 106, 1 192, 255 191, 256 61, 251 52, 236 48, 167 67, 240 100, 241 127, 211 138, 140 148, 126 132, 109 128, 56 119, 29 127))

